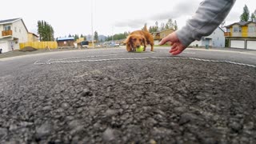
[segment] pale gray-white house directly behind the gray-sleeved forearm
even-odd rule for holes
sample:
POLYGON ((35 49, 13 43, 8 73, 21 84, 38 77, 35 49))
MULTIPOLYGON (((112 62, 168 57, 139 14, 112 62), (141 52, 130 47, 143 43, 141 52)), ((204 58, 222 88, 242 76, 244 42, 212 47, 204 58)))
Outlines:
POLYGON ((218 27, 212 34, 207 37, 202 37, 200 41, 194 41, 190 46, 212 46, 212 47, 225 47, 224 30, 218 27))

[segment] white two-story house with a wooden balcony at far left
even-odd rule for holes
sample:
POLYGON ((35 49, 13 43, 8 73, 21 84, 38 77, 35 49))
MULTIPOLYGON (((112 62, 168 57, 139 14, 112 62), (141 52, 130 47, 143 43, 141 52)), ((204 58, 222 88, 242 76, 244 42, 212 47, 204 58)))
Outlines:
POLYGON ((19 49, 19 43, 27 42, 28 30, 22 18, 0 20, 0 49, 2 53, 19 49))

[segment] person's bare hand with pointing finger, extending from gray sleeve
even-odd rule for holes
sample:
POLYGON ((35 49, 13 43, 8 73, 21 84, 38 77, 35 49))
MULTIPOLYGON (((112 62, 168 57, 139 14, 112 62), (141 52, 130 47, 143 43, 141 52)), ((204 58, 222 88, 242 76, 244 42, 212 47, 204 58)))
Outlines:
POLYGON ((165 38, 162 38, 162 41, 159 42, 159 45, 161 46, 166 42, 171 42, 172 47, 169 53, 173 55, 181 54, 182 51, 186 49, 186 46, 182 45, 182 42, 179 41, 178 36, 175 32, 167 35, 165 38))

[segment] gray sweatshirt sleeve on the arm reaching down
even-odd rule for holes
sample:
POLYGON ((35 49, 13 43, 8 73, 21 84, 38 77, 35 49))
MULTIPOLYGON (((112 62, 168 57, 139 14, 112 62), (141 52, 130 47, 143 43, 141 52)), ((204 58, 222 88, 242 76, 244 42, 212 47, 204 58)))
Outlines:
POLYGON ((186 21, 186 26, 176 31, 178 39, 184 46, 189 46, 194 40, 210 35, 230 13, 234 2, 235 0, 201 2, 194 16, 186 21))

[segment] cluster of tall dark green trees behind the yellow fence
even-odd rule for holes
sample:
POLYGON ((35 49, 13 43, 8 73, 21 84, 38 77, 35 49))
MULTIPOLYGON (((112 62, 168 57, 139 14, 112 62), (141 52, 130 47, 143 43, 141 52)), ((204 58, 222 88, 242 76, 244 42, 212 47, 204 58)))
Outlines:
POLYGON ((40 41, 54 41, 54 28, 48 22, 38 21, 38 35, 40 41))

